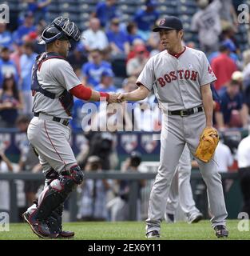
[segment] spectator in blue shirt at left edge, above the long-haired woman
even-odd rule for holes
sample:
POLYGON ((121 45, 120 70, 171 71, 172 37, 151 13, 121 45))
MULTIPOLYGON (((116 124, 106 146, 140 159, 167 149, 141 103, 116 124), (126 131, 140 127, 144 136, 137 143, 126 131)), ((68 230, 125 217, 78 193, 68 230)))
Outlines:
POLYGON ((10 59, 10 49, 2 47, 0 59, 0 88, 2 87, 2 79, 7 75, 14 75, 15 82, 18 83, 18 69, 14 62, 10 59))

